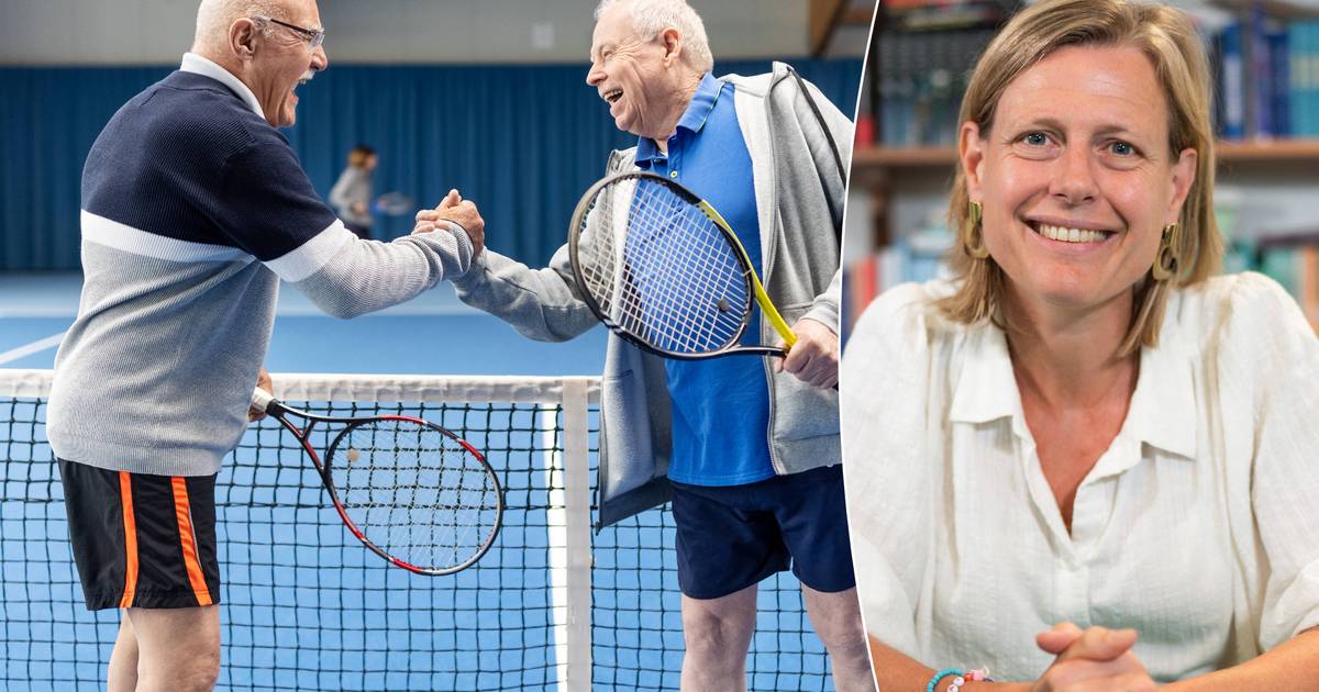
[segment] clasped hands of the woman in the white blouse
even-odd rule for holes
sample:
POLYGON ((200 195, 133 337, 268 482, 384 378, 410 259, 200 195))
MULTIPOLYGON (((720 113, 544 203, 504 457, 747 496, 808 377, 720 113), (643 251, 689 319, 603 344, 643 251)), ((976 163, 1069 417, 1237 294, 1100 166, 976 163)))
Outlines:
POLYGON ((1039 649, 1057 655, 1031 692, 1149 692, 1157 685, 1132 654, 1136 630, 1089 627, 1071 622, 1035 637, 1039 649))

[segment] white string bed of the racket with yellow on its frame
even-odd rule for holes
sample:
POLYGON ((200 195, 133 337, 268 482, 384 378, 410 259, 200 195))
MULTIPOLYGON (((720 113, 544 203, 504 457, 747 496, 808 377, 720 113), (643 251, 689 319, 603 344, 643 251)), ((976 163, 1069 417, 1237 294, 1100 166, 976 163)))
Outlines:
POLYGON ((583 216, 579 266, 605 315, 678 353, 731 345, 751 310, 745 269, 723 232, 666 185, 620 179, 583 216))

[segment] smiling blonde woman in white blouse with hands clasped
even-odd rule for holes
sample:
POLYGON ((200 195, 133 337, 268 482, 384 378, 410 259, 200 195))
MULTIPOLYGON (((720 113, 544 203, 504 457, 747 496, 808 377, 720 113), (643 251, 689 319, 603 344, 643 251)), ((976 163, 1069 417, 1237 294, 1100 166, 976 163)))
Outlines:
POLYGON ((1319 655, 1319 340, 1215 275, 1208 83, 1182 12, 1124 0, 1039 3, 976 66, 954 275, 843 364, 881 689, 1262 689, 1319 655))

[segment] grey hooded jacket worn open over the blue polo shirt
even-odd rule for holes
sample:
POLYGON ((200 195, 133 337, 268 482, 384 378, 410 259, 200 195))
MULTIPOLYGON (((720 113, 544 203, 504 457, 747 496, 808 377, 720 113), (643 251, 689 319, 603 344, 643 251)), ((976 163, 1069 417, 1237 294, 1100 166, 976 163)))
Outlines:
MULTIPOLYGON (((751 153, 765 290, 789 324, 811 318, 836 332, 845 182, 828 137, 786 65, 774 63, 770 74, 721 79, 736 87, 733 103, 751 153)), ((814 86, 807 88, 845 169, 852 123, 814 86)), ((634 157, 636 149, 613 152, 607 173, 634 169, 634 157)), ((598 323, 576 295, 567 245, 545 269, 530 269, 487 249, 454 285, 464 303, 504 319, 530 339, 567 340, 598 323)), ((768 320, 761 320, 760 337, 766 344, 777 340, 768 320)), ((776 373, 770 359, 764 361, 774 471, 799 473, 840 463, 838 391, 776 373)), ((673 442, 663 361, 612 333, 600 398, 598 527, 669 500, 673 442)), ((728 415, 733 419, 736 411, 728 415)))

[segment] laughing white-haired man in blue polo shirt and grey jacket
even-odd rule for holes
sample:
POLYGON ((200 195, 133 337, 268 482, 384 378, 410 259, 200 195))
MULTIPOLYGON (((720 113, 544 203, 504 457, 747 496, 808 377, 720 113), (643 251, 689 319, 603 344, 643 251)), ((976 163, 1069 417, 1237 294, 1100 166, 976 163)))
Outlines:
MULTIPOLYGON (((745 688, 756 584, 791 567, 839 689, 872 689, 848 550, 838 397, 839 229, 852 124, 785 65, 716 79, 683 0, 603 0, 587 83, 637 146, 607 173, 667 175, 720 210, 798 343, 783 361, 662 361, 611 335, 600 522, 671 497, 689 691, 745 688)), ((539 340, 595 324, 561 248, 485 252, 459 297, 539 340)), ((768 341, 760 320, 751 341, 768 341)))

